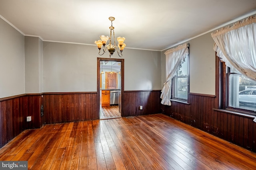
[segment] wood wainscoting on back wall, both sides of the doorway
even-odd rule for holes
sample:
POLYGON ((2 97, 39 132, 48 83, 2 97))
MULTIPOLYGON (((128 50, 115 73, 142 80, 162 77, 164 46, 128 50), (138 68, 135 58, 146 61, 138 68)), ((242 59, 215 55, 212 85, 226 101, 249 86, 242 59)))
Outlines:
MULTIPOLYGON (((160 90, 124 91, 122 117, 161 113, 160 94, 160 90)), ((44 124, 99 119, 97 95, 97 92, 44 93, 44 124)))

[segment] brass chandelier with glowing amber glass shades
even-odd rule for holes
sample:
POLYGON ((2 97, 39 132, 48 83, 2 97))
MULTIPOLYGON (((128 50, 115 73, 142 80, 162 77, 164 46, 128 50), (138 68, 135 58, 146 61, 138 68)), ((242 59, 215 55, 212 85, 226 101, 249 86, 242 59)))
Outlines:
POLYGON ((118 45, 116 45, 116 40, 115 40, 115 33, 114 33, 114 27, 112 26, 112 21, 115 20, 114 17, 109 17, 108 18, 111 21, 111 26, 109 27, 110 29, 110 37, 105 36, 105 35, 100 35, 100 40, 95 41, 94 43, 97 45, 99 49, 99 55, 103 55, 105 52, 109 52, 109 57, 114 54, 115 51, 117 51, 119 57, 123 57, 122 52, 124 50, 124 47, 126 44, 124 43, 125 37, 117 37, 116 40, 118 41, 118 45), (112 39, 112 32, 113 32, 113 37, 114 37, 114 44, 111 44, 111 39, 112 39), (106 45, 107 41, 109 40, 109 44, 106 45), (103 53, 100 54, 100 49, 103 45, 103 53), (106 47, 105 47, 106 45, 106 47), (119 51, 118 48, 119 47, 119 51))

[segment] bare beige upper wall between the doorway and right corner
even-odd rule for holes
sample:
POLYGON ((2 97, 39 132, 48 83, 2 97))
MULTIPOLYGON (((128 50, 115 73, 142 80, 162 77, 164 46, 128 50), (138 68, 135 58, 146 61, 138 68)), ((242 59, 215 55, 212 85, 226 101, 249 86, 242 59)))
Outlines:
POLYGON ((126 49, 124 90, 161 90, 161 52, 126 49))

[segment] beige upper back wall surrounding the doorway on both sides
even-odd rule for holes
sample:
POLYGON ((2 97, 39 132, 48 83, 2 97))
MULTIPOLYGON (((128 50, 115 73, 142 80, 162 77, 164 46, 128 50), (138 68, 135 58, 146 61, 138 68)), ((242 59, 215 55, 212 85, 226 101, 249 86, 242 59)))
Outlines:
MULTIPOLYGON (((96 46, 54 42, 44 42, 43 54, 44 92, 96 92, 97 57, 109 58, 96 46)), ((161 89, 160 52, 125 49, 123 56, 124 90, 161 89)))

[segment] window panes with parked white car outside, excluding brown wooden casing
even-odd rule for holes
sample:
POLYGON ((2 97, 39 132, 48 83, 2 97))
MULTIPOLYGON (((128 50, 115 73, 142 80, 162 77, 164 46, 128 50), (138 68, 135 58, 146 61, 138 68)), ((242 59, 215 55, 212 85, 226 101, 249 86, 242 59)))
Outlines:
POLYGON ((227 70, 228 107, 256 111, 256 81, 236 69, 227 70))

